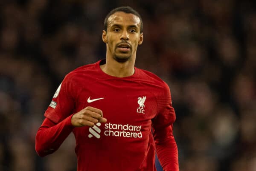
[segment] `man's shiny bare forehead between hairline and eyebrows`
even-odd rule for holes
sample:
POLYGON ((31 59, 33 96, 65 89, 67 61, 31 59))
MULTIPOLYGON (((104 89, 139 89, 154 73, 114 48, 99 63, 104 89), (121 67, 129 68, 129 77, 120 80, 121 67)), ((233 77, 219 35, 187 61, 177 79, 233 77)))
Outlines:
POLYGON ((114 24, 123 26, 135 25, 140 28, 140 18, 134 14, 118 11, 108 17, 108 26, 111 27, 114 24))

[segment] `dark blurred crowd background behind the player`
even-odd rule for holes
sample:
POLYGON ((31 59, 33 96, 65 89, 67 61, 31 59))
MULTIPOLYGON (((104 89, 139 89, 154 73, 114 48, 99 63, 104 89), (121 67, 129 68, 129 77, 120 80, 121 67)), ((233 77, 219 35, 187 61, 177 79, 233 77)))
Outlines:
POLYGON ((44 158, 35 134, 64 76, 105 58, 103 21, 118 6, 143 18, 136 66, 170 86, 180 171, 256 171, 249 0, 1 0, 0 171, 76 171, 73 134, 44 158))

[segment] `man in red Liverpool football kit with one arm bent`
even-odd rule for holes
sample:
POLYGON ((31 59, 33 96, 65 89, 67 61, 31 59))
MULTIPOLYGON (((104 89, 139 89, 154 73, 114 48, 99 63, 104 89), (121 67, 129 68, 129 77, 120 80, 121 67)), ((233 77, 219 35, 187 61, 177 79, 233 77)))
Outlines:
POLYGON ((169 87, 134 67, 143 42, 140 14, 119 7, 104 25, 106 59, 64 78, 38 129, 38 155, 53 153, 73 132, 78 171, 156 171, 155 150, 164 171, 178 171, 169 87))

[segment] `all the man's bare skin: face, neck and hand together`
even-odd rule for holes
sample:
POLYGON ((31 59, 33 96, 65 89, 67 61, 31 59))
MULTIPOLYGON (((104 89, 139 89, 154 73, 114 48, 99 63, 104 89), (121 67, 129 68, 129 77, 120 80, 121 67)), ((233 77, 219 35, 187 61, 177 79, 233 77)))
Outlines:
MULTIPOLYGON (((139 17, 121 11, 108 18, 108 29, 102 31, 102 40, 107 46, 106 63, 100 66, 103 72, 113 77, 128 77, 134 74, 137 47, 143 42, 140 24, 139 17)), ((90 106, 71 118, 75 127, 93 127, 98 122, 105 123, 107 119, 103 117, 102 110, 90 106)))

